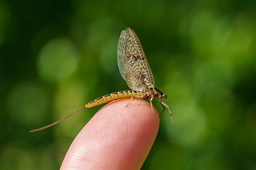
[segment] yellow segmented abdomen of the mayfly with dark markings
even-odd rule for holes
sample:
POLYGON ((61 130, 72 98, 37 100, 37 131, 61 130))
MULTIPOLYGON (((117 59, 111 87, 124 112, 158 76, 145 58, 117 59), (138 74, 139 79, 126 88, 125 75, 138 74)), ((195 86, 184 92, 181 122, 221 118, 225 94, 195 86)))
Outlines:
POLYGON ((123 98, 144 98, 145 93, 141 91, 134 91, 134 90, 126 90, 126 91, 118 91, 115 93, 110 93, 108 95, 102 96, 100 98, 97 98, 88 104, 86 104, 87 108, 94 107, 103 103, 108 103, 110 101, 114 101, 117 99, 123 99, 123 98))

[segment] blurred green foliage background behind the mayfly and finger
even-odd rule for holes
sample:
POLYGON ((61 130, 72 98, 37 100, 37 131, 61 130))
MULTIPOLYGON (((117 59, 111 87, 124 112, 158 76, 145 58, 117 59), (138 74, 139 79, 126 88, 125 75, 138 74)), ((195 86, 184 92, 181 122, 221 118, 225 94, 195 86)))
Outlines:
MULTIPOLYGON (((170 93, 142 169, 256 169, 256 1, 0 1, 0 169, 58 169, 102 107, 128 90, 121 33, 141 40, 155 86, 170 93)), ((154 106, 161 112, 157 99, 154 106)))

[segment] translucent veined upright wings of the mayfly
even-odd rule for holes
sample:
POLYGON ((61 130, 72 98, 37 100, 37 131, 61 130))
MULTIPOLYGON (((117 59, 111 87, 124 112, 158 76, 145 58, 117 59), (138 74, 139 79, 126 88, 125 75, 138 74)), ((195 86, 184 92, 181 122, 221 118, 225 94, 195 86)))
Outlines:
POLYGON ((121 32, 118 50, 118 67, 122 77, 132 90, 154 88, 154 78, 140 40, 131 28, 121 32))

